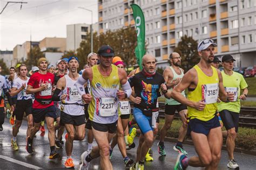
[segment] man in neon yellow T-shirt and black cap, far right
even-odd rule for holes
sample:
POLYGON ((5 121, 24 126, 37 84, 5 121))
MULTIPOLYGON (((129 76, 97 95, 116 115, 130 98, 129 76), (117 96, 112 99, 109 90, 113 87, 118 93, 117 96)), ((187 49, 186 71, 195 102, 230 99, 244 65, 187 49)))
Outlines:
POLYGON ((227 167, 232 169, 239 167, 234 160, 234 147, 238 132, 239 112, 241 109, 240 100, 246 100, 248 94, 248 86, 244 77, 237 72, 233 72, 234 61, 235 59, 232 55, 224 55, 221 59, 224 67, 224 70, 221 72, 223 86, 227 93, 234 94, 234 100, 228 103, 218 103, 219 115, 227 130, 226 146, 229 158, 227 167))

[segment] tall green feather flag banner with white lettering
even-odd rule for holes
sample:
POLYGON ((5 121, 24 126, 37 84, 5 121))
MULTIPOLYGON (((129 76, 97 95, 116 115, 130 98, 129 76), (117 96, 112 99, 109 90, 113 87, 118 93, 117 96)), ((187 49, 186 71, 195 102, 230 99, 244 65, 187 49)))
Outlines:
POLYGON ((137 47, 135 48, 135 55, 137 64, 139 65, 140 70, 142 70, 142 57, 145 54, 145 18, 139 5, 131 4, 131 8, 137 31, 137 47))

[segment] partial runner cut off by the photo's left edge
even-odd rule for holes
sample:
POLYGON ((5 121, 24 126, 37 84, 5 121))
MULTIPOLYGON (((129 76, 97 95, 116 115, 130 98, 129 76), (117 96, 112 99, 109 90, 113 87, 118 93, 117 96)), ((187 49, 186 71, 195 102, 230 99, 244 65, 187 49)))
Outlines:
POLYGON ((1 75, 2 73, 2 66, 0 66, 0 131, 3 131, 3 124, 4 124, 4 95, 7 96, 8 102, 11 107, 11 112, 14 111, 14 104, 12 104, 11 96, 7 89, 7 83, 5 77, 1 75))

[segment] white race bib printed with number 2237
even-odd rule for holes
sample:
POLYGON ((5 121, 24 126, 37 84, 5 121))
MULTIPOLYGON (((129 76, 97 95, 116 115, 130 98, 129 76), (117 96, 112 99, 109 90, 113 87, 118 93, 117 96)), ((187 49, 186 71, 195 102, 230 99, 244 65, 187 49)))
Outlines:
POLYGON ((114 105, 113 97, 100 98, 99 114, 102 117, 114 116, 117 113, 117 108, 114 105))

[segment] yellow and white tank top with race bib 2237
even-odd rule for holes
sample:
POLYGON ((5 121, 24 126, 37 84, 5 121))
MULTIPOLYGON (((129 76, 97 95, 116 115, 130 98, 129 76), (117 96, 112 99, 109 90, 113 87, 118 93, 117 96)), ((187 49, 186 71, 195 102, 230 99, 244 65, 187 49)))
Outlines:
POLYGON ((111 66, 112 72, 109 76, 100 74, 98 65, 92 67, 92 100, 89 103, 88 112, 89 119, 96 123, 109 124, 118 119, 117 90, 120 87, 120 80, 117 66, 111 66), (111 116, 109 116, 109 112, 111 112, 111 116))

